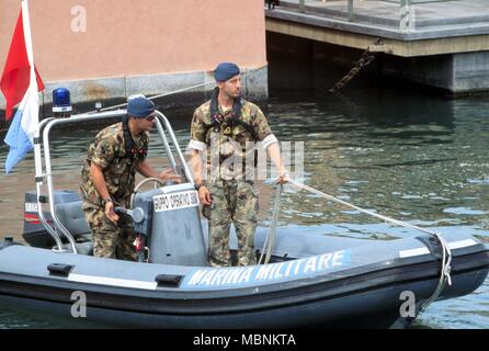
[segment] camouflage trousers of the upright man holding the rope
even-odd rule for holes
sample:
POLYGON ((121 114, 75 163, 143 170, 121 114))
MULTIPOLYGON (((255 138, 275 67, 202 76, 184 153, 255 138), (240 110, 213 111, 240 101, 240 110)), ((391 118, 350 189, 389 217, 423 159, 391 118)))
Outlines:
POLYGON ((258 190, 252 181, 216 180, 206 182, 212 205, 204 206, 208 219, 209 264, 231 265, 229 229, 231 222, 238 237, 238 265, 257 264, 254 231, 259 211, 258 190))

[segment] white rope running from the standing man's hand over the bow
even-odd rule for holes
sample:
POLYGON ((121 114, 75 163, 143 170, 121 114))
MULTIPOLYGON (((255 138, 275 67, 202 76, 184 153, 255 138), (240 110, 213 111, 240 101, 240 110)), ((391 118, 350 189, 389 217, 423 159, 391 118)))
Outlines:
POLYGON ((451 270, 452 270, 452 269, 451 269, 451 263, 452 263, 452 251, 450 250, 450 248, 448 248, 448 246, 447 246, 445 239, 444 239, 440 234, 437 234, 437 233, 435 233, 435 231, 432 231, 432 230, 428 230, 428 229, 425 229, 425 228, 421 228, 421 227, 411 225, 411 224, 406 223, 406 222, 397 220, 397 219, 394 219, 394 218, 390 218, 390 217, 387 217, 387 216, 383 216, 383 215, 379 215, 379 214, 369 212, 369 211, 367 211, 367 210, 363 210, 363 208, 361 208, 361 207, 359 207, 359 206, 355 206, 355 205, 352 205, 352 204, 350 204, 350 203, 348 203, 348 202, 345 202, 345 201, 342 201, 342 200, 337 199, 337 197, 334 197, 334 196, 328 195, 328 194, 326 194, 326 193, 323 193, 323 192, 321 192, 321 191, 319 191, 319 190, 316 190, 316 189, 310 188, 310 186, 308 186, 308 185, 298 183, 298 182, 295 181, 295 180, 292 180, 292 179, 291 179, 291 180, 289 180, 289 183, 291 183, 292 185, 298 188, 298 189, 306 190, 306 191, 308 191, 308 192, 311 192, 311 193, 314 193, 314 194, 317 194, 317 195, 319 195, 319 196, 321 196, 321 197, 328 199, 328 200, 333 201, 333 202, 336 202, 336 203, 339 203, 339 204, 349 206, 349 207, 351 207, 351 208, 357 210, 357 211, 360 211, 360 212, 362 212, 362 213, 365 213, 365 214, 367 214, 367 215, 371 215, 371 216, 380 218, 380 219, 383 219, 383 220, 385 220, 385 222, 390 222, 390 223, 394 223, 394 224, 399 225, 399 226, 402 226, 402 227, 408 227, 408 228, 417 229, 417 230, 423 231, 423 233, 429 234, 429 235, 431 235, 432 237, 434 237, 434 238, 440 242, 440 246, 441 246, 441 248, 442 248, 442 267, 441 267, 441 274, 440 274, 440 280, 439 280, 439 283, 437 283, 437 285, 436 285, 436 288, 435 288, 434 293, 433 293, 433 294, 432 294, 432 295, 431 295, 431 296, 430 296, 430 297, 429 297, 429 298, 421 305, 420 310, 419 310, 420 314, 422 314, 422 313, 428 308, 428 306, 429 306, 431 303, 433 303, 433 302, 440 296, 440 294, 443 292, 443 288, 445 287, 445 284, 446 284, 446 283, 448 283, 448 285, 452 285, 452 278, 450 276, 450 274, 451 274, 451 270))

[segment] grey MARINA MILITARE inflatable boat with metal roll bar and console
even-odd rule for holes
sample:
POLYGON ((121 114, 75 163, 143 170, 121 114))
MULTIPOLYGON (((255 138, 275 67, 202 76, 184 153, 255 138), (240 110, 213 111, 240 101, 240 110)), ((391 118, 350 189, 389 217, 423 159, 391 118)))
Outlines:
MULTIPOLYGON (((0 244, 0 305, 80 326, 389 328, 408 325, 435 301, 470 294, 488 275, 489 247, 464 233, 373 241, 278 229, 266 264, 208 267, 192 176, 159 111, 158 134, 184 181, 137 191, 123 210, 144 238, 138 262, 93 257, 80 196, 54 189, 49 132, 125 114, 41 123, 36 190, 25 194, 29 246, 0 244)), ((270 231, 261 228, 258 256, 266 242, 270 231)))

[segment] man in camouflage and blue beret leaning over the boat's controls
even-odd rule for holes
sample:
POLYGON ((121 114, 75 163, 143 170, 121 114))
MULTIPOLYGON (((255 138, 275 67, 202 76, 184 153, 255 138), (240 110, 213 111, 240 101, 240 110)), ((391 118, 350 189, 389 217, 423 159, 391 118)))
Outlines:
POLYGON ((139 95, 127 104, 128 117, 101 131, 90 145, 81 171, 83 211, 93 238, 93 254, 136 260, 132 218, 117 215, 127 208, 136 171, 145 177, 179 181, 171 170, 159 173, 146 160, 148 133, 155 123, 155 104, 139 95))

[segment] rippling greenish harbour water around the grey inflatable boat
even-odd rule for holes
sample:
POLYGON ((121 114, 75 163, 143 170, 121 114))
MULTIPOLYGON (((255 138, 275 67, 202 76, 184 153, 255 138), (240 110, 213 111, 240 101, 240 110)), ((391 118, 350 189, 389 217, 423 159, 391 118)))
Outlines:
MULTIPOLYGON (((304 141, 305 183, 363 208, 442 233, 464 230, 489 242, 488 98, 451 100, 419 87, 360 77, 343 95, 327 88, 344 70, 270 63, 269 122, 281 140, 304 141)), ((163 102, 161 103, 163 104, 163 102)), ((182 146, 192 109, 167 111, 182 146)), ((80 162, 99 127, 69 132, 54 145, 55 186, 78 188, 80 162)), ((155 146, 156 155, 161 147, 155 146)), ((0 165, 7 148, 0 146, 0 165)), ((33 156, 0 176, 2 235, 21 240, 23 194, 34 189, 33 156)), ((261 185, 261 225, 273 190, 261 185)), ((388 240, 413 235, 375 218, 288 190, 280 226, 303 233, 388 240)), ((475 293, 430 306, 420 328, 489 328, 489 281, 475 293)), ((59 324, 0 309, 0 328, 57 328, 59 324)))

